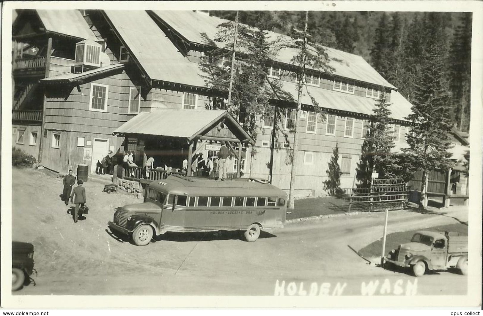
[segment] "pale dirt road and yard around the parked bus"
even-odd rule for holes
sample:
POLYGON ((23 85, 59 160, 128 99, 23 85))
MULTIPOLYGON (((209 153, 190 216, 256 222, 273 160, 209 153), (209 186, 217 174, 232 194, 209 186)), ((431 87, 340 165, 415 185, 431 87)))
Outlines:
MULTIPOLYGON (((416 281, 359 258, 348 246, 379 239, 383 213, 293 223, 255 243, 238 232, 167 233, 136 247, 109 234, 107 221, 114 207, 140 200, 102 193, 101 183, 88 181, 89 214, 74 224, 58 196, 60 178, 14 169, 13 179, 13 239, 34 244, 39 272, 37 286, 18 295, 466 294, 465 276, 441 272, 416 281)), ((388 233, 455 222, 394 211, 388 233)))

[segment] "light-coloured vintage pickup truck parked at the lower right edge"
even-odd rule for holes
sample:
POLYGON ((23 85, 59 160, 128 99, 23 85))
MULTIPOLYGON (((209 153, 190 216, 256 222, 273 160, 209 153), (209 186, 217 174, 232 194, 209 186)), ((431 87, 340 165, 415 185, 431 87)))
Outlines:
POLYGON ((422 276, 427 270, 449 268, 457 268, 462 275, 467 275, 468 236, 419 231, 412 236, 410 243, 392 249, 384 261, 411 269, 414 276, 422 276))

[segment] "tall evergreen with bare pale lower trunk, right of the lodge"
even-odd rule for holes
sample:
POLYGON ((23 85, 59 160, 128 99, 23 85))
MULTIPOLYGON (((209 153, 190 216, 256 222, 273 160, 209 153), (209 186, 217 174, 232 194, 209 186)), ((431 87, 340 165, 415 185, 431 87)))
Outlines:
POLYGON ((426 49, 412 100, 412 114, 407 118, 415 126, 408 133, 409 148, 403 149, 409 153, 412 166, 423 173, 420 207, 427 206, 429 173, 436 168, 447 168, 447 158, 451 157, 447 151, 451 144, 448 133, 453 124, 443 69, 446 47, 443 23, 440 14, 426 16, 426 49))

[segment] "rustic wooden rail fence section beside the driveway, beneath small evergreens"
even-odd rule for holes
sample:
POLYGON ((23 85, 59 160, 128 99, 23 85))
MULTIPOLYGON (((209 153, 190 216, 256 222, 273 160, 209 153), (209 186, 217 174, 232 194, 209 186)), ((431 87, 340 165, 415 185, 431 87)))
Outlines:
POLYGON ((358 206, 368 211, 401 209, 408 202, 409 191, 402 179, 372 179, 370 188, 353 188, 345 198, 349 211, 358 206))

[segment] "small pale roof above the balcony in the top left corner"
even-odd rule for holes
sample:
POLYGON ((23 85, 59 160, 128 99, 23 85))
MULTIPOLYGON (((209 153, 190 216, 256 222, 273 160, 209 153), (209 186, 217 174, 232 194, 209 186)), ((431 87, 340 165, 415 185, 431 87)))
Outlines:
POLYGON ((77 10, 36 10, 46 31, 79 39, 98 39, 77 10))

